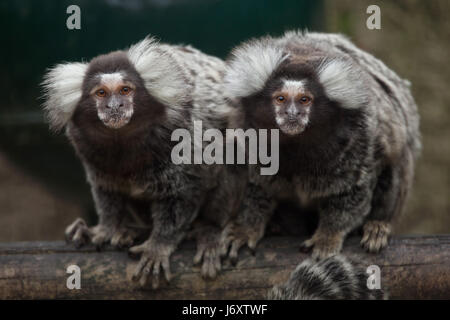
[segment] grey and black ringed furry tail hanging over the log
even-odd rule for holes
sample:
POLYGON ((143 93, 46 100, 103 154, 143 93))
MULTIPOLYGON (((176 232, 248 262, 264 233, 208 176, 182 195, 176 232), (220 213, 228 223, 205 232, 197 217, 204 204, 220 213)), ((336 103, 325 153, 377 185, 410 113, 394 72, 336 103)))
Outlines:
POLYGON ((369 289, 369 275, 356 261, 338 254, 324 260, 306 259, 283 285, 274 286, 269 300, 381 300, 388 294, 369 289))

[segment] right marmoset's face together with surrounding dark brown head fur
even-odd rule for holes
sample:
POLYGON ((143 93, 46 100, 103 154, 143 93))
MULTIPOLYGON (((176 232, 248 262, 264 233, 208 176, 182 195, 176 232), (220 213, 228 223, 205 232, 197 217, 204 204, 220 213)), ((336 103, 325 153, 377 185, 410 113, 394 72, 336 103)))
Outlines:
POLYGON ((246 126, 278 128, 280 137, 288 140, 328 132, 342 116, 314 70, 303 65, 286 65, 275 71, 260 92, 242 98, 241 103, 246 126))

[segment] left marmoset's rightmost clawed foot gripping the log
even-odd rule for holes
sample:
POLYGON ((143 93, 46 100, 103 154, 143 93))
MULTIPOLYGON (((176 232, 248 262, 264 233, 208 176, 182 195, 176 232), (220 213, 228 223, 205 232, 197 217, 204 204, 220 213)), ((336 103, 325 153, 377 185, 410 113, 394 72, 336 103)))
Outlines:
POLYGON ((221 257, 224 254, 220 242, 220 230, 210 225, 197 227, 194 230, 193 237, 197 241, 194 264, 203 261, 200 272, 202 277, 214 279, 222 269, 221 257))

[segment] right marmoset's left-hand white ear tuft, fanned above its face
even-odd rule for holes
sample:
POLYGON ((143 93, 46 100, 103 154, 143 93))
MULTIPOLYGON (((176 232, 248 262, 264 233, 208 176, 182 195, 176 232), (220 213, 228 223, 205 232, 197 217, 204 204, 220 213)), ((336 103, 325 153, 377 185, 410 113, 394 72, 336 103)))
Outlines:
POLYGON ((262 90, 286 58, 287 55, 270 37, 240 45, 227 62, 226 94, 232 99, 243 98, 262 90))

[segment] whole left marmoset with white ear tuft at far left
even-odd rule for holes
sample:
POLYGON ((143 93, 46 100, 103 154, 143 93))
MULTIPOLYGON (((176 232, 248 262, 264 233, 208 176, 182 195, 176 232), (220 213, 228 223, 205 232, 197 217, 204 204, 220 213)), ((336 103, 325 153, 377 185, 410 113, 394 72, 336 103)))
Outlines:
MULTIPOLYGON (((133 220, 129 208, 143 203, 138 216, 151 220, 152 231, 147 241, 130 248, 141 254, 133 279, 146 285, 153 276, 157 287, 160 268, 170 280, 170 256, 202 207, 206 212, 214 208, 219 218, 211 214, 208 219, 219 221, 219 227, 226 222, 236 207, 233 197, 242 193, 240 182, 224 173, 225 166, 176 165, 171 159, 175 129, 192 132, 194 120, 204 128, 227 127, 224 71, 222 60, 192 47, 146 38, 128 50, 89 63, 60 64, 46 74, 44 108, 50 125, 65 127, 99 217, 90 228, 77 219, 66 229, 68 240, 130 246, 136 232, 128 225, 133 220)), ((211 277, 220 269, 219 236, 208 236, 213 231, 220 234, 207 228, 197 237, 196 256, 197 262, 204 258, 202 274, 211 277)))

